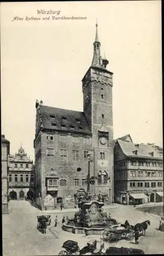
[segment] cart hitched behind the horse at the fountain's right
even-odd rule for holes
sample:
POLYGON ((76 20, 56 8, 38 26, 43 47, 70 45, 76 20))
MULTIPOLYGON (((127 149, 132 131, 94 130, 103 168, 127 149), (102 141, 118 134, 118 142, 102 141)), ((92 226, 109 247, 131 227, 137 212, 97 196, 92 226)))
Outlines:
POLYGON ((131 228, 125 228, 122 225, 113 225, 104 230, 103 239, 107 242, 114 242, 121 239, 133 239, 134 230, 131 228))

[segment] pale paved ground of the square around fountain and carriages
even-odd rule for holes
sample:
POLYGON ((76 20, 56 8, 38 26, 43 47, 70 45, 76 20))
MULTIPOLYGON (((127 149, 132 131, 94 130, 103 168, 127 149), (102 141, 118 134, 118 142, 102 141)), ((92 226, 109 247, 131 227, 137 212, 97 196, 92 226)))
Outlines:
MULTIPOLYGON (((134 207, 118 205, 113 209, 105 209, 111 212, 113 218, 119 222, 129 220, 134 225, 138 222, 150 220, 151 225, 146 230, 146 236, 139 238, 139 245, 134 241, 121 240, 117 243, 105 243, 105 248, 111 246, 133 247, 143 249, 145 253, 164 253, 164 232, 157 230, 159 226, 159 217, 136 210, 134 207)), ((79 248, 86 245, 88 240, 97 239, 100 236, 88 236, 83 234, 72 234, 61 229, 63 216, 69 218, 74 216, 74 212, 52 213, 51 226, 46 234, 42 234, 37 229, 37 215, 43 212, 28 201, 10 201, 9 214, 3 215, 3 255, 57 255, 62 249, 61 246, 66 240, 74 240, 79 243, 79 248), (54 229, 54 217, 58 216, 58 226, 54 229)))

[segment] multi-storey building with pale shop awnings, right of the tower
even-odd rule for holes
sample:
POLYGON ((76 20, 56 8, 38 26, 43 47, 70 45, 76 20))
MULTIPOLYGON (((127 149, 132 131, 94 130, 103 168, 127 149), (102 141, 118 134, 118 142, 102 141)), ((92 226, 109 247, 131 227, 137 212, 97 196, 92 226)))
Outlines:
POLYGON ((115 202, 163 201, 163 149, 150 143, 132 143, 130 135, 115 140, 115 143, 115 202))

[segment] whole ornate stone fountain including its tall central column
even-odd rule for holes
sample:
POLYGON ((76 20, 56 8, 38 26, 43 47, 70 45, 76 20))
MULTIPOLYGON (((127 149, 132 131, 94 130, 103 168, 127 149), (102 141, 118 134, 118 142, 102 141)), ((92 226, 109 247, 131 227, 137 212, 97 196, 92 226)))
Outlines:
POLYGON ((93 161, 93 152, 88 152, 88 176, 87 193, 83 188, 77 191, 79 211, 75 213, 74 219, 63 224, 63 230, 72 233, 101 234, 104 229, 117 224, 115 219, 107 217, 103 212, 104 205, 101 193, 98 196, 90 195, 90 184, 94 184, 95 177, 90 177, 90 162, 93 161))

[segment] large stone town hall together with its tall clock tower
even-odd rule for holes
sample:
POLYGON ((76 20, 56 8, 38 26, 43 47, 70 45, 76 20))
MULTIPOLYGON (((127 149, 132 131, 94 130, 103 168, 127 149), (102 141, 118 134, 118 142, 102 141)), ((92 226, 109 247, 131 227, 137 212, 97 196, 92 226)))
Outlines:
POLYGON ((61 203, 74 207, 77 191, 87 189, 88 169, 91 194, 101 191, 106 204, 114 201, 113 73, 107 64, 100 56, 96 24, 92 64, 82 79, 84 111, 36 102, 36 202, 42 209, 61 203))

